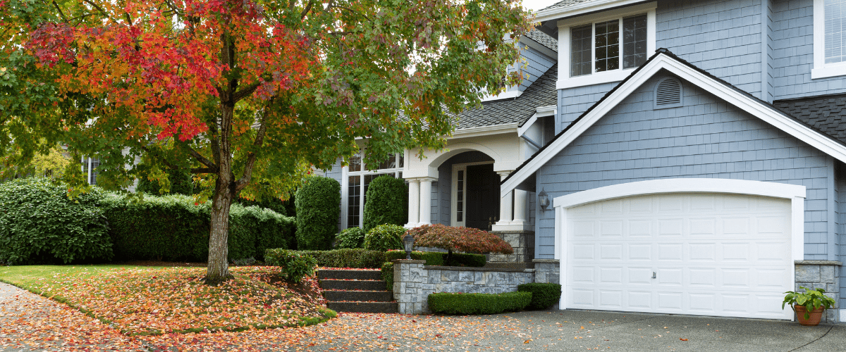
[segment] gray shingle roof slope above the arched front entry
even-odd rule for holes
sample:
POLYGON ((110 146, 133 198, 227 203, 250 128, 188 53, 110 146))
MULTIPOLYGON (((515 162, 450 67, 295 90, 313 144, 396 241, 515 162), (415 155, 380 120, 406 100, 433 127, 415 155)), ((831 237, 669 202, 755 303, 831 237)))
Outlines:
POLYGON ((456 129, 484 127, 519 123, 520 126, 535 115, 539 106, 554 106, 558 103, 555 81, 558 79, 558 64, 552 65, 546 73, 535 80, 517 98, 493 100, 481 103, 481 109, 459 113, 456 129))

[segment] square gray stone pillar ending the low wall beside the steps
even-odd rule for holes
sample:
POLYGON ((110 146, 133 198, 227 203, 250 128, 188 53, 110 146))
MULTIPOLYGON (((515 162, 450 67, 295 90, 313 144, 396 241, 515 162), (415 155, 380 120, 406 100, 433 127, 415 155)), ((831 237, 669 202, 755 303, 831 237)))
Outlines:
POLYGON ((427 270, 423 268, 425 260, 393 260, 393 299, 397 301, 399 314, 422 314, 428 311, 424 307, 423 284, 428 281, 427 270))

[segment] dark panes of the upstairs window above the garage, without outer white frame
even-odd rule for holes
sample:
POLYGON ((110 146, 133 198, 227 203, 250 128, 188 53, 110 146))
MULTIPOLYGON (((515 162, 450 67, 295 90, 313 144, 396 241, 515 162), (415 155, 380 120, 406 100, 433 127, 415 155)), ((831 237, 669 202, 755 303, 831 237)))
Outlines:
POLYGON ((646 62, 646 44, 646 14, 573 27, 570 76, 636 68, 646 62))

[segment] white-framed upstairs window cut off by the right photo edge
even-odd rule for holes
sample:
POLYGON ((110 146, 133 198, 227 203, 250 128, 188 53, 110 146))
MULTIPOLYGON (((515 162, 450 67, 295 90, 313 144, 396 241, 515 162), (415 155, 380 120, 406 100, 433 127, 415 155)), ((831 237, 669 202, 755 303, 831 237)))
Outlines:
POLYGON ((814 0, 811 79, 846 75, 846 0, 814 0))

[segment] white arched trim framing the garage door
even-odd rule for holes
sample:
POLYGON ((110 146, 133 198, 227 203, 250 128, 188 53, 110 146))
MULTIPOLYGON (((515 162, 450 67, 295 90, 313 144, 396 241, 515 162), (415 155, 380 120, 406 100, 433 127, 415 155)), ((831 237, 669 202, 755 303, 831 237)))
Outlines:
MULTIPOLYGON (((554 253, 555 258, 559 261, 561 273, 566 273, 565 265, 567 264, 565 248, 567 248, 568 208, 615 198, 680 192, 733 193, 790 200, 790 256, 793 259, 790 261, 790 273, 795 272, 795 261, 805 258, 805 186, 721 178, 673 178, 599 187, 554 198, 552 200, 552 205, 555 208, 554 253)), ((563 280, 562 285, 561 301, 558 304, 565 307, 567 288, 563 280)), ((791 287, 795 286, 796 278, 794 275, 791 287)))

